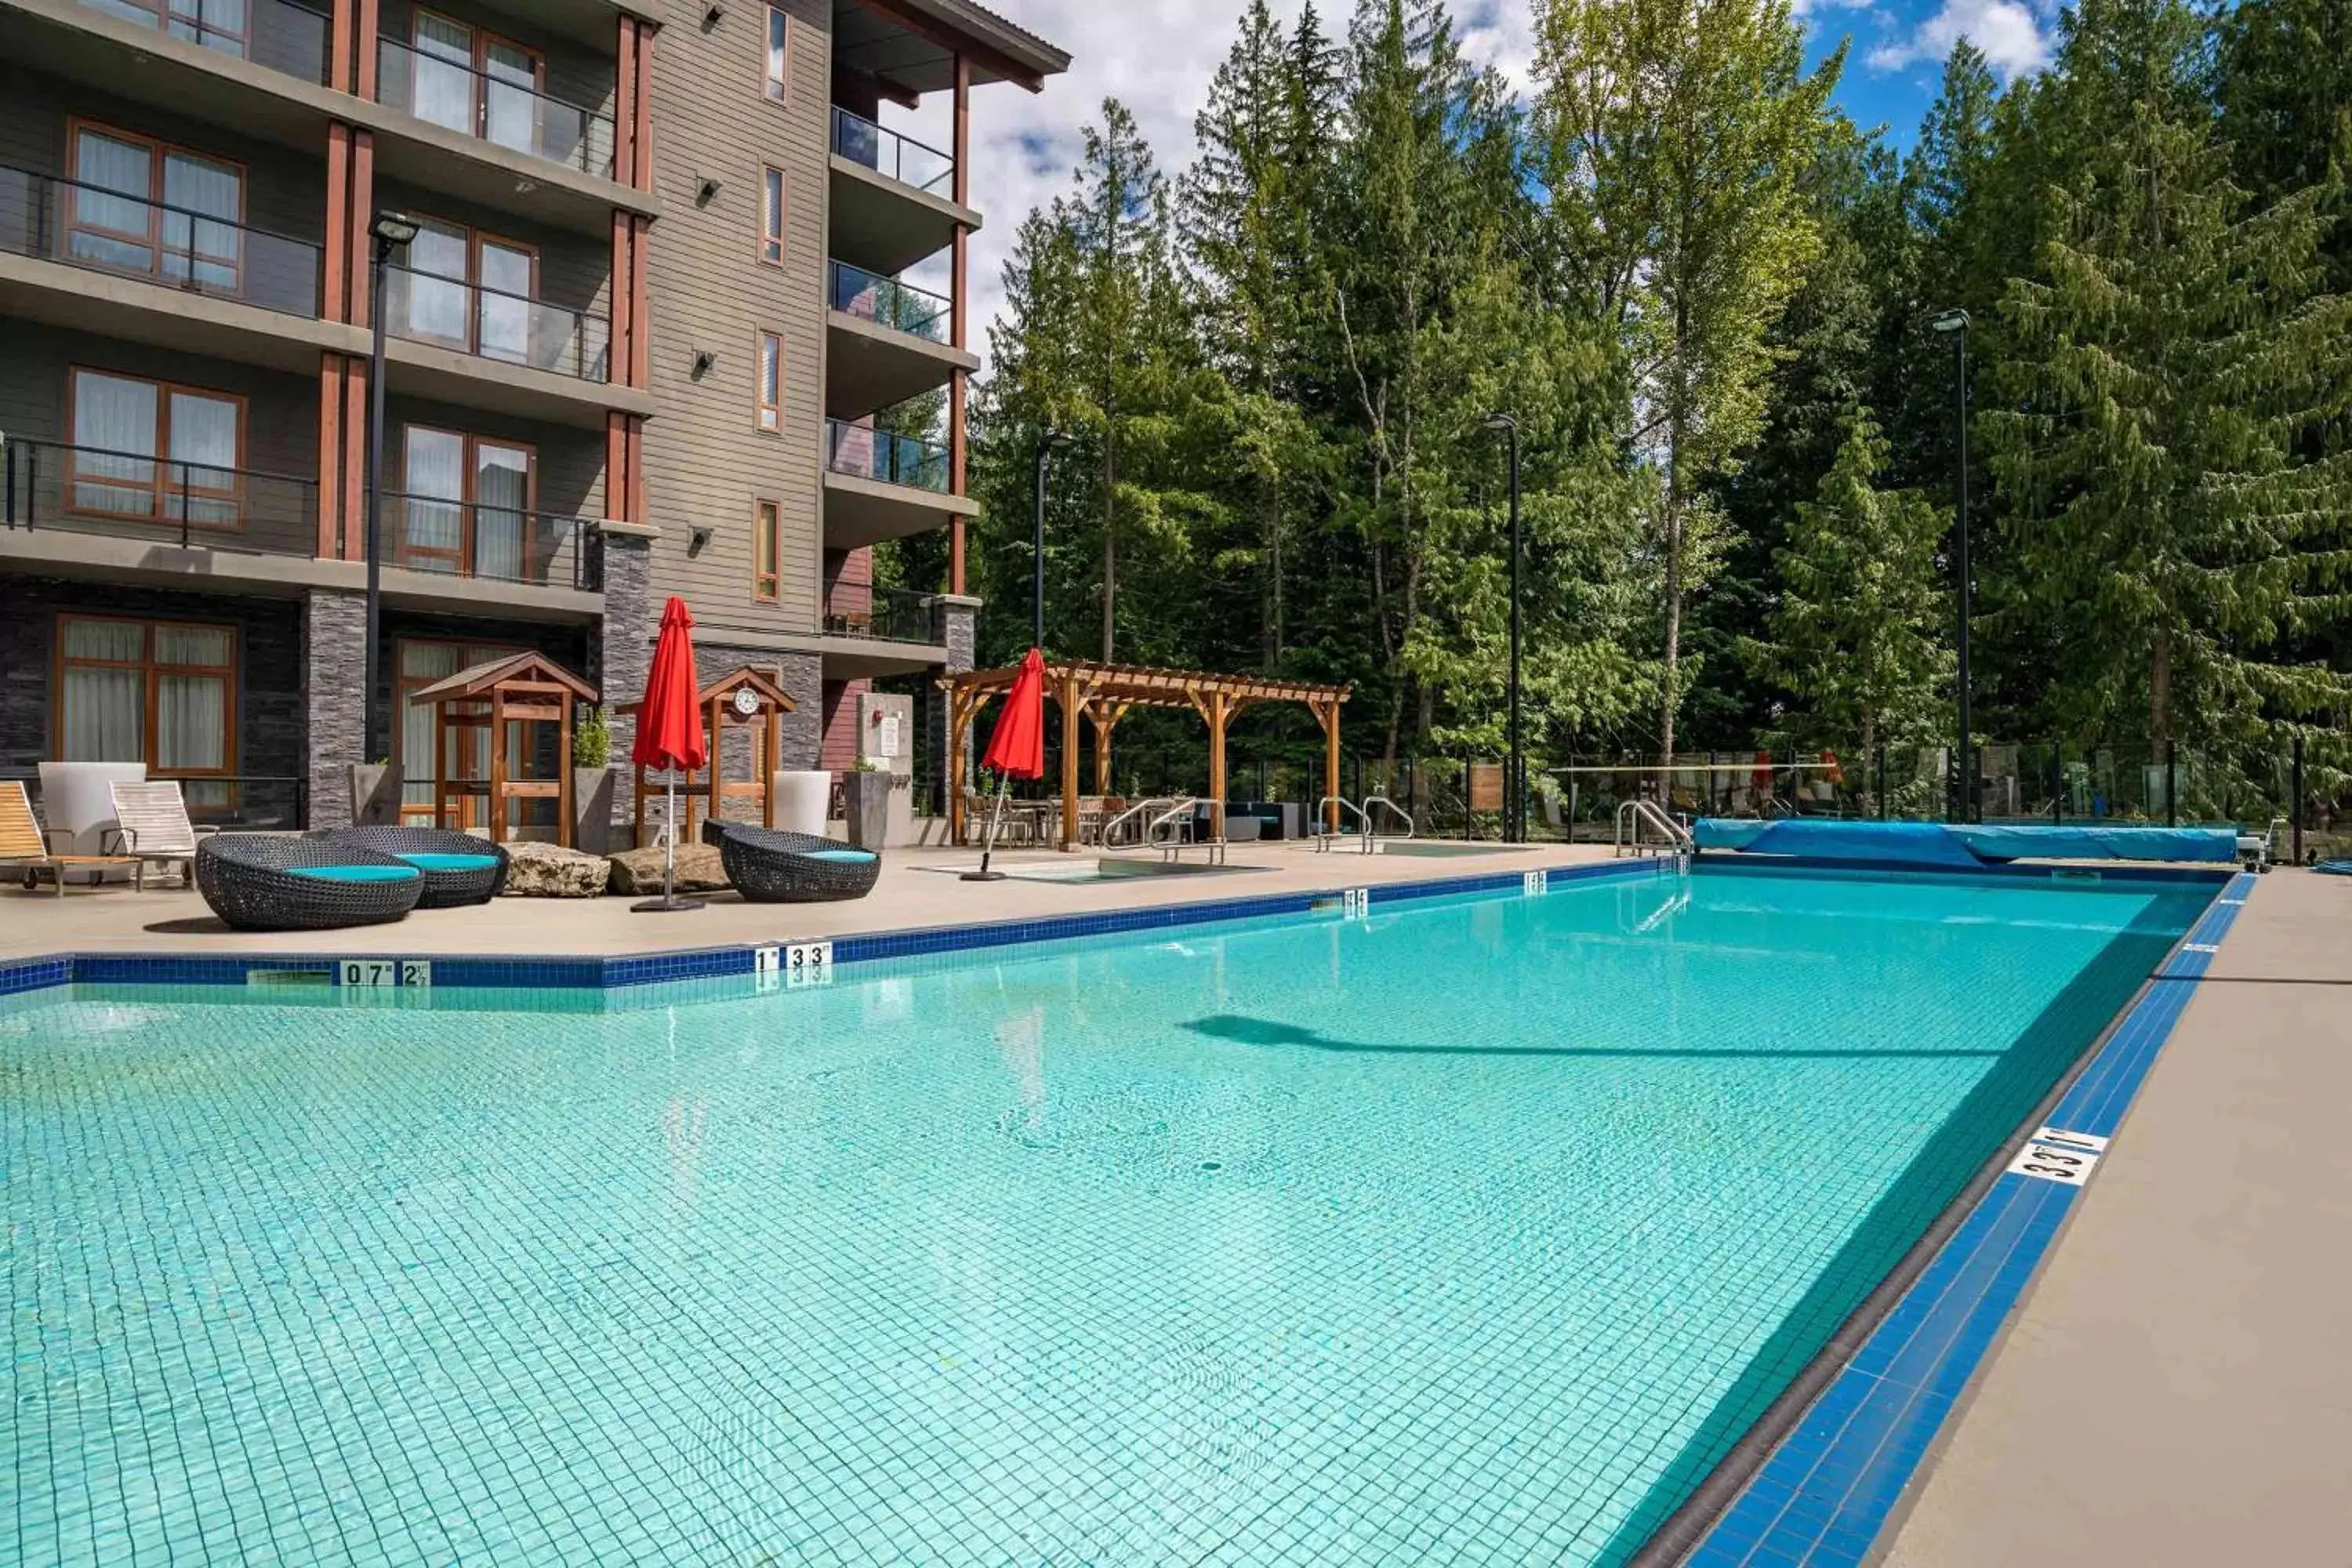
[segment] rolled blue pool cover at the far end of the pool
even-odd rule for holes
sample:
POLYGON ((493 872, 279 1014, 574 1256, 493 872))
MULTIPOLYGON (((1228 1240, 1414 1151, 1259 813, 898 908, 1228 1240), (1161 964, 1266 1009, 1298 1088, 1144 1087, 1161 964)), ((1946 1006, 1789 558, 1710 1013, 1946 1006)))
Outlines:
POLYGON ((2213 860, 2237 858, 2232 827, 1966 827, 1950 823, 1759 823, 1703 816, 1700 849, 1748 849, 1813 860, 1903 860, 1976 870, 2004 860, 2213 860))

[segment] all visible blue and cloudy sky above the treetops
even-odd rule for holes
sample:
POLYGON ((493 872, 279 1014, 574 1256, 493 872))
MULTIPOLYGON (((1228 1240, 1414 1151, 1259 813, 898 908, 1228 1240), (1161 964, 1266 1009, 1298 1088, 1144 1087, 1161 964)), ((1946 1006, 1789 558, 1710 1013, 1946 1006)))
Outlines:
MULTIPOLYGON (((1296 19, 1303 0, 1270 0, 1296 19)), ((1837 99, 1858 125, 1886 125, 1907 148, 1952 40, 1966 35, 2004 80, 2049 59, 2056 0, 1792 0, 1811 59, 1851 35, 1837 99)), ((974 322, 988 322, 1002 299, 1000 273, 1011 233, 1040 200, 1068 186, 1080 132, 1105 96, 1134 110, 1162 167, 1174 176, 1192 153, 1192 115, 1209 78, 1232 45, 1244 0, 988 0, 1016 24, 1070 52, 1070 73, 1025 94, 1011 85, 974 94, 971 193, 988 226, 974 237, 974 322)), ((1319 0, 1327 24, 1343 24, 1352 0, 1319 0)), ((1534 59, 1529 0, 1454 0, 1463 45, 1524 85, 1534 59)), ((884 115, 946 146, 946 94, 920 110, 884 115)), ((917 277, 922 282, 922 277, 917 277)), ((936 277, 931 280, 936 282, 936 277)), ((985 339, 974 331, 974 348, 985 339)))

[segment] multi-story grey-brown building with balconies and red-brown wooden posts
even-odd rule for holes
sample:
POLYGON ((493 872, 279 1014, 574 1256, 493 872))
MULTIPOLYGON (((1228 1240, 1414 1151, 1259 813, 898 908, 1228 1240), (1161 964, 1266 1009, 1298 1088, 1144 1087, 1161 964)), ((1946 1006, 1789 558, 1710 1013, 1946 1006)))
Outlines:
POLYGON ((1065 66, 971 0, 0 0, 0 773, 332 825, 433 776, 407 693, 630 698, 670 592, 797 701, 764 766, 842 766, 863 682, 969 658, 969 94, 1065 66), (877 125, 929 94, 946 150, 877 125), (924 529, 950 592, 870 585, 924 529))

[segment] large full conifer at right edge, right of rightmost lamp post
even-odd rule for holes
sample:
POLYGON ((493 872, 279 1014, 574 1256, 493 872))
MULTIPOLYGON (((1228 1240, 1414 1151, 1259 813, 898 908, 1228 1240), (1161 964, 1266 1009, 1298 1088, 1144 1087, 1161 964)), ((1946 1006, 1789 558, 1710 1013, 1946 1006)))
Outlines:
POLYGON ((2256 741, 2352 703, 2343 672, 2281 656, 2340 621, 2352 574, 2352 461, 2307 442, 2347 390, 2333 193, 2230 181, 2199 40, 2166 0, 2084 7, 2060 125, 2129 118, 2060 143, 2039 268, 2004 301, 2016 407, 1983 416, 2020 578, 2063 623, 2051 717, 2074 741, 2256 741))

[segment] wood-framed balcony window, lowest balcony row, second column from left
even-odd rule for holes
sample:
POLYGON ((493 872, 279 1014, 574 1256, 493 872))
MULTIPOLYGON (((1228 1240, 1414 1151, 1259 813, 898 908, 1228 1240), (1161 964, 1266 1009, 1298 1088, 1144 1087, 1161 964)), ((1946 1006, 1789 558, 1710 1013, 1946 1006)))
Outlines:
POLYGON ((393 562, 414 571, 532 581, 536 454, 517 442, 430 425, 409 425, 400 449, 400 512, 386 517, 393 562))

